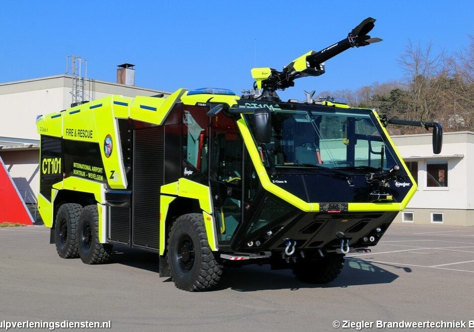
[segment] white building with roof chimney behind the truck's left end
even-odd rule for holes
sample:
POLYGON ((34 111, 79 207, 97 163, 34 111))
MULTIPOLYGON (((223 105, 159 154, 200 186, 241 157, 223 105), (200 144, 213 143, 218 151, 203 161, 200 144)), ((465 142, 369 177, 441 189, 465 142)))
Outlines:
MULTIPOLYGON (((128 73, 130 71, 133 69, 128 69, 128 73)), ((86 99, 92 101, 110 95, 169 95, 159 90, 136 87, 133 77, 130 80, 123 72, 118 70, 118 82, 131 85, 86 80, 86 99)), ((67 75, 0 83, 0 157, 26 204, 36 202, 39 186, 39 135, 36 132, 36 115, 70 108, 72 92, 73 78, 67 75)))

